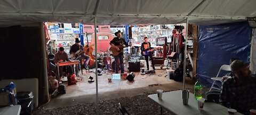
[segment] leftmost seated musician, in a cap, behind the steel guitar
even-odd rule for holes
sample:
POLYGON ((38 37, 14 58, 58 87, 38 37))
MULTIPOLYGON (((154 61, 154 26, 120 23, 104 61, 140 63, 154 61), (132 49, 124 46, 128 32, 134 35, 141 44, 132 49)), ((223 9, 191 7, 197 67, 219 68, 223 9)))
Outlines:
MULTIPOLYGON (((59 52, 55 54, 53 61, 54 61, 54 63, 61 63, 61 62, 69 61, 68 54, 64 51, 63 47, 59 48, 59 52)), ((62 80, 62 77, 63 77, 63 70, 68 72, 68 76, 67 76, 68 77, 68 85, 76 84, 75 79, 71 78, 71 76, 74 77, 74 71, 70 65, 59 67, 60 81, 62 80)))

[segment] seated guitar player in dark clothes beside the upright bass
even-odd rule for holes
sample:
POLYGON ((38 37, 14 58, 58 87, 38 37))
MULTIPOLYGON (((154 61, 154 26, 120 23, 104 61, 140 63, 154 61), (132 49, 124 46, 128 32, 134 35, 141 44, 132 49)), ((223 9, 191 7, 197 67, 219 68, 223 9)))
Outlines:
MULTIPOLYGON (((83 51, 83 46, 80 45, 80 40, 79 40, 78 38, 76 38, 75 42, 76 42, 76 43, 71 46, 70 51, 69 51, 69 53, 70 53, 70 54, 73 54, 73 55, 76 55, 75 53, 76 53, 77 51, 81 51, 81 52, 83 51)), ((82 66, 83 68, 86 68, 88 62, 90 61, 90 56, 85 55, 84 53, 82 53, 82 54, 81 54, 81 57, 79 57, 78 60, 80 60, 81 66, 82 66), (84 62, 83 65, 82 65, 82 59, 85 60, 85 62, 84 62)))

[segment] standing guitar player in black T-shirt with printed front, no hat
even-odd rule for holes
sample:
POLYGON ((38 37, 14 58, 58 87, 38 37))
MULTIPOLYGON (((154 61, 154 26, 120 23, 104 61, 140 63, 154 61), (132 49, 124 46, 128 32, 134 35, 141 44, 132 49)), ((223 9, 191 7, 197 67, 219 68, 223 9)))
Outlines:
POLYGON ((154 60, 153 60, 153 56, 152 56, 152 52, 148 52, 148 55, 145 55, 145 52, 151 49, 151 45, 148 42, 148 37, 144 37, 144 42, 141 44, 140 50, 142 52, 142 55, 145 56, 145 60, 147 62, 147 70, 149 70, 149 65, 148 65, 148 57, 150 57, 151 60, 151 64, 152 64, 152 68, 153 68, 153 72, 155 72, 155 64, 154 64, 154 60))

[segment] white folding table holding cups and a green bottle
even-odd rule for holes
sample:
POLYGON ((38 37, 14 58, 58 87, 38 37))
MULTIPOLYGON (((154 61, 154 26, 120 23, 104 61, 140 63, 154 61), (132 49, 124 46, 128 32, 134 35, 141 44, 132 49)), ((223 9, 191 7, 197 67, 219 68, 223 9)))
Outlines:
MULTIPOLYGON (((167 109, 172 114, 228 114, 228 108, 217 103, 206 102, 204 103, 204 109, 202 111, 198 110, 197 101, 194 94, 189 93, 188 105, 183 105, 182 103, 182 90, 164 92, 162 100, 158 100, 157 94, 148 95, 149 98, 157 102, 162 108, 167 109)), ((241 114, 241 113, 237 113, 241 114)))

